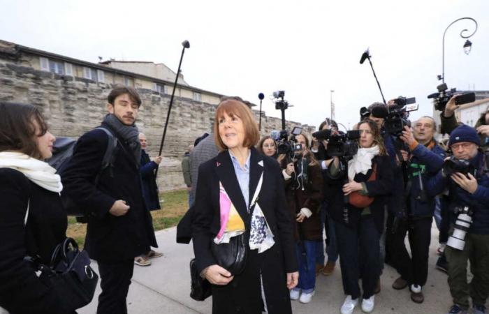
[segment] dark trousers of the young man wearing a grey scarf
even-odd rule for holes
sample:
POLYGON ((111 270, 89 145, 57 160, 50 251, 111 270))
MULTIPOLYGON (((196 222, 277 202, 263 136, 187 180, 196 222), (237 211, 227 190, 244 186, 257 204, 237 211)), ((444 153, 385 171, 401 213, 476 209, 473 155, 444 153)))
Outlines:
POLYGON ((102 293, 98 296, 97 314, 126 314, 126 297, 133 277, 134 260, 98 262, 102 293))

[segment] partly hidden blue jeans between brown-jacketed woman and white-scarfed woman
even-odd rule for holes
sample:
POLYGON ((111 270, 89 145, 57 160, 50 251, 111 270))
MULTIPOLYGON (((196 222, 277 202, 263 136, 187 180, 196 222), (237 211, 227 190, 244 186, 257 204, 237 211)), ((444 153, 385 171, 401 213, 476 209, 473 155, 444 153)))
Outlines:
MULTIPOLYGON (((336 262, 338 260, 338 246, 336 244, 336 231, 335 220, 328 215, 328 205, 326 202, 321 203, 321 225, 326 228, 326 254, 328 255, 328 261, 336 262)), ((316 247, 316 264, 324 265, 324 242, 318 241, 316 247)))

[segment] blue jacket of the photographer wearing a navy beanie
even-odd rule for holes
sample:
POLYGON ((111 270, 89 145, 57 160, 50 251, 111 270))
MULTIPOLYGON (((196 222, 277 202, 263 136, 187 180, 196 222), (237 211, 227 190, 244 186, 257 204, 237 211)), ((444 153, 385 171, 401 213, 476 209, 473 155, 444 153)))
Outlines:
POLYGON ((470 163, 479 170, 474 176, 478 186, 473 194, 460 188, 450 177, 444 177, 442 170, 428 181, 427 189, 431 195, 437 195, 448 187, 448 210, 456 213, 458 207, 468 206, 474 212, 469 232, 489 234, 489 176, 483 172, 486 163, 484 154, 479 151, 470 163))

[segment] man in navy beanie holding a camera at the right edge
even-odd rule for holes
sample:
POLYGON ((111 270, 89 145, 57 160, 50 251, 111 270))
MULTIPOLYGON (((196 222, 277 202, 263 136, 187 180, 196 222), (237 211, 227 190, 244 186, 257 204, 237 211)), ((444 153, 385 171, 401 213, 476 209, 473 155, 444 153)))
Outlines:
MULTIPOLYGON (((457 223, 452 226, 450 232, 451 238, 463 234, 465 246, 452 248, 449 239, 445 248, 448 285, 453 298, 453 306, 449 311, 451 314, 467 313, 469 296, 472 297, 473 313, 486 313, 484 304, 489 294, 489 177, 485 173, 486 156, 479 149, 479 144, 480 139, 474 128, 455 128, 448 142, 454 159, 446 160, 444 168, 427 184, 427 190, 431 195, 441 193, 448 187, 448 209, 458 214, 460 209, 464 209, 465 212, 465 207, 468 207, 469 217, 472 217, 472 223, 468 224, 467 229, 457 223), (468 163, 464 163, 465 160, 468 160, 468 163), (467 230, 467 234, 460 230, 461 228, 467 230), (470 260, 474 275, 471 283, 467 283, 467 260, 470 260)), ((461 243, 464 244, 463 239, 461 243)))

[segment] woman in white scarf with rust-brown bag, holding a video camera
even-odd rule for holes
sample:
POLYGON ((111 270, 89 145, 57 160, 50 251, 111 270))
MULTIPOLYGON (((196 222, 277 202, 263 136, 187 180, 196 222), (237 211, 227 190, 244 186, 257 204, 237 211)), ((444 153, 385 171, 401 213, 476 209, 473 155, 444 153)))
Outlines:
POLYGON ((360 278, 363 285, 362 311, 373 311, 374 290, 381 271, 379 240, 384 231, 384 207, 393 181, 392 168, 385 166, 390 161, 377 124, 365 119, 358 124, 358 130, 358 152, 346 165, 345 158, 335 157, 329 167, 333 179, 348 176, 348 183, 337 184, 330 200, 346 294, 342 314, 353 313, 358 304, 360 278), (345 166, 348 167, 347 172, 345 166), (348 196, 347 200, 345 196, 348 196))

